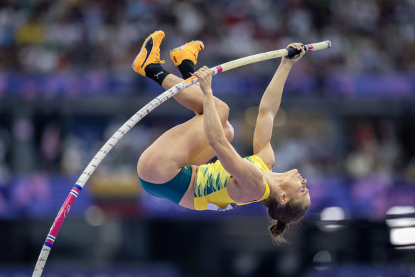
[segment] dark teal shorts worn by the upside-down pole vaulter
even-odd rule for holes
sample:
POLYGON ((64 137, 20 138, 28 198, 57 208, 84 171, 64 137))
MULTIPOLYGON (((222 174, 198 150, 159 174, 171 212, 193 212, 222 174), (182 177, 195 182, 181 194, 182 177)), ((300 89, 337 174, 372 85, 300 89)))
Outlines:
POLYGON ((168 199, 171 202, 178 204, 189 188, 190 180, 192 179, 192 167, 186 164, 185 167, 178 172, 176 177, 163 184, 146 182, 140 177, 139 179, 141 186, 146 192, 149 192, 149 194, 155 197, 168 199))

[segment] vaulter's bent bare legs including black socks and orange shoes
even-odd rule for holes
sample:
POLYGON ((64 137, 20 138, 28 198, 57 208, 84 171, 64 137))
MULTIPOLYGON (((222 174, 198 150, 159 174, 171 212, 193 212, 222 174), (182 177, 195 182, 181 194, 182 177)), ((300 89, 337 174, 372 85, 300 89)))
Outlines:
MULTIPOLYGON (((161 66, 159 46, 163 37, 163 31, 156 31, 146 38, 132 67, 137 73, 155 80, 168 89, 183 79, 168 73, 161 66)), ((194 72, 198 52, 202 48, 201 41, 192 41, 171 51, 173 63, 178 66, 183 76, 186 75, 185 78, 194 72)), ((137 170, 141 179, 148 182, 168 182, 185 164, 203 164, 215 156, 203 130, 203 93, 199 86, 192 85, 180 91, 174 98, 197 115, 165 132, 141 155, 137 170)), ((232 140, 233 128, 227 122, 229 108, 217 98, 215 107, 228 140, 232 140)))

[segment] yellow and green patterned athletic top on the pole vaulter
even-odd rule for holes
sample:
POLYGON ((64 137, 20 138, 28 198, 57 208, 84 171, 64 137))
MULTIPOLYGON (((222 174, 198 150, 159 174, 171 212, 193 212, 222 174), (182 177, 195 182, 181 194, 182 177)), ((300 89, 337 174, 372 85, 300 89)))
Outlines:
MULTIPOLYGON (((257 156, 245 157, 245 160, 253 162, 263 172, 270 172, 264 161, 257 156)), ((230 174, 223 168, 219 160, 212 164, 202 164, 198 169, 198 179, 195 185, 195 209, 196 210, 222 210, 232 209, 232 204, 245 205, 249 203, 259 202, 269 197, 269 185, 265 184, 265 192, 261 199, 247 203, 238 203, 232 200, 227 193, 227 180, 230 174)))

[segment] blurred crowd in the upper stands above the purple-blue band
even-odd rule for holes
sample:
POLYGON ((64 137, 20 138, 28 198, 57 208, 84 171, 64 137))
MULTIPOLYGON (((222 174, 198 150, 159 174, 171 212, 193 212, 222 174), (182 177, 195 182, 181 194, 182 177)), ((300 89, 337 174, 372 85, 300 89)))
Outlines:
POLYGON ((330 40, 335 47, 312 58, 321 69, 414 72, 414 14, 411 0, 5 0, 0 69, 126 70, 143 39, 161 29, 166 51, 203 40, 201 63, 330 40))

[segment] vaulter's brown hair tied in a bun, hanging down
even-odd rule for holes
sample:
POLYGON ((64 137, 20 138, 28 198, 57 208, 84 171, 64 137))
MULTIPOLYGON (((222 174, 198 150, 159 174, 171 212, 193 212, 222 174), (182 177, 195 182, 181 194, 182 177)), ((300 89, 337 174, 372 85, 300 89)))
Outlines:
POLYGON ((301 216, 306 214, 308 207, 310 207, 309 205, 303 206, 301 202, 294 202, 291 199, 286 204, 281 204, 277 199, 271 197, 265 199, 262 204, 268 208, 268 216, 274 219, 269 226, 269 233, 275 244, 286 242, 282 234, 287 225, 301 219, 301 216))

